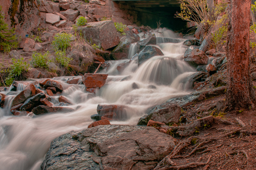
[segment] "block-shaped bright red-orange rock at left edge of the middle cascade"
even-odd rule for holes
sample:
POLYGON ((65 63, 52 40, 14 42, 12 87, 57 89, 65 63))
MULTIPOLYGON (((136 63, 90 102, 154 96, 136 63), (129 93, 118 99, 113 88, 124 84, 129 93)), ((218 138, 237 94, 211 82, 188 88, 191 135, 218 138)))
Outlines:
POLYGON ((84 74, 82 82, 87 88, 102 87, 106 83, 106 74, 84 74))

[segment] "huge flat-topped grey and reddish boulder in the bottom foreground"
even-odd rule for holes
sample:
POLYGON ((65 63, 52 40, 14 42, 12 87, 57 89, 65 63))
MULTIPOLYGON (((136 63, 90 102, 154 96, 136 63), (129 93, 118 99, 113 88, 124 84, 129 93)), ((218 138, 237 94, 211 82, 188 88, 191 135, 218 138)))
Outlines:
POLYGON ((41 169, 153 169, 175 142, 153 127, 97 126, 55 138, 41 169))

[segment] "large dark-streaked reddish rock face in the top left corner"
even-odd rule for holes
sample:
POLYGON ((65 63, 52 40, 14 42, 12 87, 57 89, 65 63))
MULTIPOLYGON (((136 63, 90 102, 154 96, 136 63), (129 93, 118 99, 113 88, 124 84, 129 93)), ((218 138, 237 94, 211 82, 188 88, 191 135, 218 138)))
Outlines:
POLYGON ((40 23, 40 14, 34 0, 0 0, 4 20, 9 27, 14 27, 16 35, 25 38, 40 23))

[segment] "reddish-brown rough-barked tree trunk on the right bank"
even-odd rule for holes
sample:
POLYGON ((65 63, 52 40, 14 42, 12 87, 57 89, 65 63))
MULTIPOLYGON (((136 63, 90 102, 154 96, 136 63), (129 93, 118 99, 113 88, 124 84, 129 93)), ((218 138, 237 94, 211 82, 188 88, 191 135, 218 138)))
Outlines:
POLYGON ((231 0, 227 37, 226 105, 239 111, 254 108, 255 96, 250 77, 250 0, 231 0))

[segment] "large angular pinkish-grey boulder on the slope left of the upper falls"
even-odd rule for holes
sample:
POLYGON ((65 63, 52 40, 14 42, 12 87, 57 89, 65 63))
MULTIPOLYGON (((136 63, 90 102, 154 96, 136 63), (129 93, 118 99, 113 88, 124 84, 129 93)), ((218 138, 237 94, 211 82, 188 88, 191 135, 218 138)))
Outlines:
POLYGON ((102 47, 103 50, 118 45, 120 40, 119 33, 112 20, 89 22, 87 26, 79 27, 77 31, 82 33, 84 39, 102 47))

